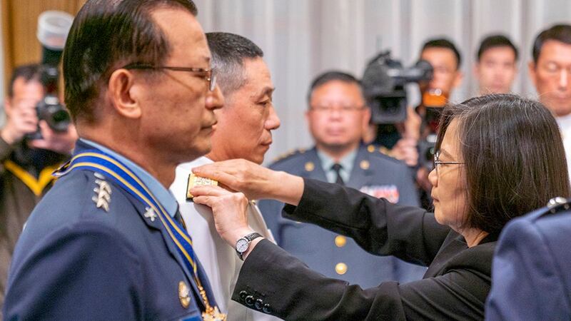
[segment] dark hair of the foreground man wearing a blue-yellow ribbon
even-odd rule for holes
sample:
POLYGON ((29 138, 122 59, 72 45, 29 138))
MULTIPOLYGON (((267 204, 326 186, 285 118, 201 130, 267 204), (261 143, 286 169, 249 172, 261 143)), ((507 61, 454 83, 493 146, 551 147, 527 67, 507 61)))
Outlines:
POLYGON ((114 68, 137 62, 160 65, 171 47, 151 18, 158 8, 187 10, 191 0, 88 0, 74 19, 64 48, 66 106, 74 119, 96 121, 96 98, 114 68))

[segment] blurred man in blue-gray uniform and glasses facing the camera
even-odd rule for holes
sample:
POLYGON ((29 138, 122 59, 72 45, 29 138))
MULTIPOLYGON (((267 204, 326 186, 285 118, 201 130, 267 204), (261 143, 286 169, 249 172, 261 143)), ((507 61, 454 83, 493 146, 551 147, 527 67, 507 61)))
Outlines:
MULTIPOLYGON (((348 73, 330 71, 313 81, 305 114, 315 147, 299 150, 270 167, 307 178, 357 188, 391 202, 418 205, 413 173, 385 156, 375 146, 363 146, 370 110, 360 83, 348 73)), ((385 280, 420 280, 425 267, 393 257, 378 257, 353 240, 316 225, 281 217, 283 203, 262 200, 260 210, 278 245, 328 277, 347 280, 363 288, 385 280)))

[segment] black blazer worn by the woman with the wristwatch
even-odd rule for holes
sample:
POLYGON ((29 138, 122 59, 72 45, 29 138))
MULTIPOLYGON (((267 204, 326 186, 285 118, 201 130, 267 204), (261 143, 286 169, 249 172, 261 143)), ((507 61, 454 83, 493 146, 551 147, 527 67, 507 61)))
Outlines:
POLYGON ((233 300, 285 320, 479 320, 490 291, 497 235, 468 248, 433 213, 351 188, 305 179, 284 216, 348 235, 375 255, 428 265, 423 280, 363 290, 329 279, 262 240, 244 263, 233 300))

